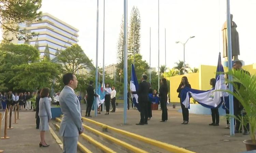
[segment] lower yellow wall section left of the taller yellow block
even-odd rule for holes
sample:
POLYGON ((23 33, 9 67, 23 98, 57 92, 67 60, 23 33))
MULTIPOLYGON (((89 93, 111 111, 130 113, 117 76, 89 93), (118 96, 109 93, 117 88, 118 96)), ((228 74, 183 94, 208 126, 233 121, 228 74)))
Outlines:
MULTIPOLYGON (((181 83, 181 78, 183 76, 186 76, 188 78, 188 82, 191 85, 193 89, 199 89, 199 73, 189 73, 186 75, 178 75, 174 77, 168 78, 170 80, 170 98, 171 102, 180 102, 180 99, 178 98, 177 88, 179 87, 181 83)), ((191 100, 192 101, 192 100, 191 100)))

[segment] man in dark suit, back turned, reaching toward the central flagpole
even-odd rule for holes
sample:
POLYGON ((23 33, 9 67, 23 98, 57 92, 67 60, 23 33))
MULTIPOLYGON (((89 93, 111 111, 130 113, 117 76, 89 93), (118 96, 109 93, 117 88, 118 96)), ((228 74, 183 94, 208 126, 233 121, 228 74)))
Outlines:
POLYGON ((147 105, 148 105, 148 91, 150 89, 149 84, 146 82, 147 76, 143 75, 141 83, 139 84, 138 91, 131 91, 131 94, 138 94, 139 111, 140 111, 140 122, 136 125, 147 124, 147 105))

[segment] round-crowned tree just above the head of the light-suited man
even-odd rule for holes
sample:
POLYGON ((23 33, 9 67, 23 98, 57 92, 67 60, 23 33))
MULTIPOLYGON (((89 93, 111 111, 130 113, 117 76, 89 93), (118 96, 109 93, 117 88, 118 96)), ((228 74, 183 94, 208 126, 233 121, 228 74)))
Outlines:
POLYGON ((82 48, 73 44, 58 56, 59 62, 63 63, 63 70, 76 74, 78 70, 86 69, 91 66, 91 60, 85 55, 82 48))

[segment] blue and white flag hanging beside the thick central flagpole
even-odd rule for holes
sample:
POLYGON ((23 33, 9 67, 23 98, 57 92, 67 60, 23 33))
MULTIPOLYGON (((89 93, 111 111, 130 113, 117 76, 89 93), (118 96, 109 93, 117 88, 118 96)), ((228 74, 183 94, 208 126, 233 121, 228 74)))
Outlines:
MULTIPOLYGON (((134 66, 131 65, 131 81, 130 81, 130 90, 131 91, 138 91, 139 89, 139 83, 135 74, 134 66)), ((131 99, 136 108, 139 110, 139 102, 138 102, 138 95, 137 94, 131 94, 131 99)))

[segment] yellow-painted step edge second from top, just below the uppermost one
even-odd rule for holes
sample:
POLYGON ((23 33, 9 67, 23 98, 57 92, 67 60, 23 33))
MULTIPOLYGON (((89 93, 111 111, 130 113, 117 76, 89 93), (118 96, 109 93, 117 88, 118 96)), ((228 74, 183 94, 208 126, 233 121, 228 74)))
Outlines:
MULTIPOLYGON (((56 118, 56 120, 59 121, 59 122, 61 121, 59 118, 56 118)), ((131 151, 133 151, 133 152, 135 152, 135 153, 148 153, 148 152, 146 152, 146 151, 144 151, 144 150, 142 150, 142 149, 140 149, 140 148, 137 148, 137 147, 134 147, 134 146, 130 145, 129 143, 126 143, 126 142, 121 141, 121 140, 119 140, 119 139, 116 139, 116 138, 114 138, 114 137, 112 137, 112 136, 109 136, 109 135, 107 135, 107 134, 104 134, 104 133, 102 133, 102 132, 100 132, 100 131, 98 131, 98 130, 95 130, 95 129, 93 129, 93 128, 90 128, 90 127, 87 126, 87 125, 84 125, 84 124, 83 124, 83 127, 84 127, 85 129, 87 129, 87 130, 89 130, 89 131, 91 131, 91 132, 93 132, 93 133, 95 133, 95 134, 97 134, 97 135, 99 135, 99 136, 101 136, 101 137, 103 137, 103 138, 106 138, 106 139, 108 139, 108 140, 110 140, 110 141, 112 141, 112 142, 114 142, 114 143, 116 143, 116 144, 118 144, 118 145, 120 145, 120 146, 123 146, 123 147, 127 148, 128 150, 131 150, 131 151)))

